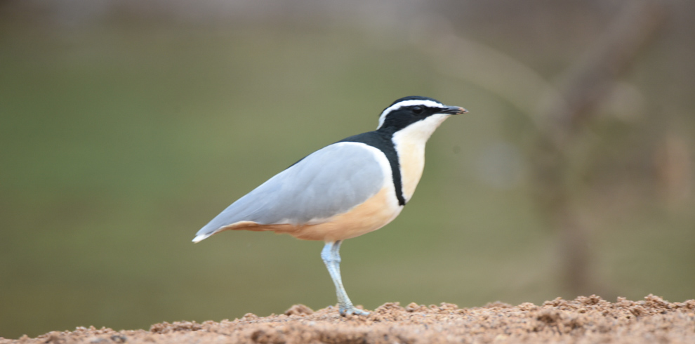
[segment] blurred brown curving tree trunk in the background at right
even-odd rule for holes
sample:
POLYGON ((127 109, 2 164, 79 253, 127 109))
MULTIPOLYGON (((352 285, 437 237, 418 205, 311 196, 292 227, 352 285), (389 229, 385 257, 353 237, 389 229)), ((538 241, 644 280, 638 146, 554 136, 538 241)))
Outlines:
POLYGON ((569 197, 572 146, 583 124, 595 114, 616 78, 635 61, 655 36, 663 11, 651 1, 632 1, 607 33, 562 77, 558 92, 545 101, 541 138, 534 154, 536 198, 557 230, 564 289, 573 295, 597 292, 590 266, 590 231, 578 218, 569 197))

